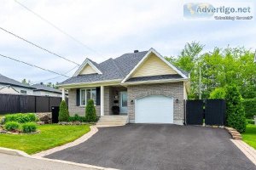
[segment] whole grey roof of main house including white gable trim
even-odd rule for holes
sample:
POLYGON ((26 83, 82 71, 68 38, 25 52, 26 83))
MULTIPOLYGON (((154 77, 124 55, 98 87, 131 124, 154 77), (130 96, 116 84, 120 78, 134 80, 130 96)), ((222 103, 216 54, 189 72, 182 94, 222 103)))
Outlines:
MULTIPOLYGON (((120 57, 116 59, 108 59, 106 61, 103 61, 100 64, 97 64, 96 62, 85 59, 83 65, 85 66, 89 61, 90 64, 96 66, 96 68, 102 72, 102 74, 87 74, 87 75, 79 75, 79 72, 82 71, 83 66, 81 65, 79 67, 79 70, 76 71, 76 74, 74 74, 73 77, 68 78, 64 82, 61 82, 58 84, 58 86, 65 86, 65 85, 73 85, 73 84, 80 84, 80 83, 90 83, 90 82, 108 82, 108 81, 119 81, 122 82, 122 80, 127 77, 131 71, 139 65, 139 63, 147 56, 149 53, 154 52, 156 55, 160 56, 153 48, 151 48, 148 51, 142 51, 137 53, 130 53, 130 54, 123 54, 120 57)), ((161 59, 166 62, 167 65, 170 65, 175 71, 177 71, 178 75, 180 77, 186 77, 188 78, 188 73, 185 71, 181 71, 181 69, 177 69, 175 66, 173 66, 171 63, 166 61, 162 56, 160 56, 161 59)), ((173 77, 173 76, 172 76, 173 77)))

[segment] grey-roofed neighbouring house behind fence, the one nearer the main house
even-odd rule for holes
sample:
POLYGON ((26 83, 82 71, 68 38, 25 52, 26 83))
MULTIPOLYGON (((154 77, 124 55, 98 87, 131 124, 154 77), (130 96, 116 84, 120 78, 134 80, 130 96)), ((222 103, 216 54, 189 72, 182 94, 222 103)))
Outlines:
POLYGON ((34 95, 61 97, 61 90, 47 87, 44 85, 43 82, 38 84, 33 84, 31 87, 35 88, 33 90, 34 95))

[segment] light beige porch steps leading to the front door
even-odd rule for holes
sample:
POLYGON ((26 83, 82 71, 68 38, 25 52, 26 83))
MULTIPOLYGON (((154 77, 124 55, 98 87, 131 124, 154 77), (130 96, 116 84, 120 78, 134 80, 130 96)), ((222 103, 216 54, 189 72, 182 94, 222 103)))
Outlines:
POLYGON ((128 122, 128 116, 101 116, 97 126, 121 126, 128 122))

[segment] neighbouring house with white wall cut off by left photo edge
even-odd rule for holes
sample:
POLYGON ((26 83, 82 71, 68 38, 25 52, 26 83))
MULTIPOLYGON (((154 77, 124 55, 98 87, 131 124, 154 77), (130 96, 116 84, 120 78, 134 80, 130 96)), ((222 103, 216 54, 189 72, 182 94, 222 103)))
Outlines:
POLYGON ((33 89, 29 85, 15 81, 0 74, 0 94, 26 94, 32 95, 33 89))

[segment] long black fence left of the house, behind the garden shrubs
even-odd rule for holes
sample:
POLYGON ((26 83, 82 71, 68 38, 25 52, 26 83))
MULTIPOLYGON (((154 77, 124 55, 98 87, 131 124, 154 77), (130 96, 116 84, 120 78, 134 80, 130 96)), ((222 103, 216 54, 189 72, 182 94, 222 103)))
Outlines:
POLYGON ((61 104, 60 97, 0 94, 0 114, 51 112, 61 104))

